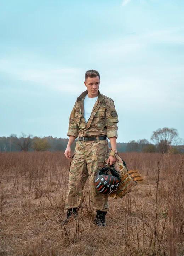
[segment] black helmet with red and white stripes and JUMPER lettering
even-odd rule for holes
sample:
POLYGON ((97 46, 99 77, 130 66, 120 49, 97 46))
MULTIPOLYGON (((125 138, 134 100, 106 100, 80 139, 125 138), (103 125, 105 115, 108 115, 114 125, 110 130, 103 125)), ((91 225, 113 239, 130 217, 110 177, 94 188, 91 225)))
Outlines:
POLYGON ((112 194, 116 191, 120 183, 120 176, 115 170, 114 166, 106 167, 105 165, 100 171, 98 171, 95 185, 97 190, 102 194, 112 194), (110 170, 112 175, 106 174, 110 170))

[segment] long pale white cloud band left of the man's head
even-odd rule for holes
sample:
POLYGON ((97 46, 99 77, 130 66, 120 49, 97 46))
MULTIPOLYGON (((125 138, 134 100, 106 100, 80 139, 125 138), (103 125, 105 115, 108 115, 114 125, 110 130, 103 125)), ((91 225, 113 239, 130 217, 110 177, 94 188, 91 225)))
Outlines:
MULTIPOLYGON (((36 60, 35 63, 38 64, 36 60)), ((13 75, 16 80, 34 82, 63 92, 75 93, 79 91, 80 85, 84 87, 81 82, 81 79, 84 79, 84 72, 80 68, 40 69, 34 65, 31 68, 25 68, 25 66, 27 66, 26 60, 0 59, 0 71, 13 75)))

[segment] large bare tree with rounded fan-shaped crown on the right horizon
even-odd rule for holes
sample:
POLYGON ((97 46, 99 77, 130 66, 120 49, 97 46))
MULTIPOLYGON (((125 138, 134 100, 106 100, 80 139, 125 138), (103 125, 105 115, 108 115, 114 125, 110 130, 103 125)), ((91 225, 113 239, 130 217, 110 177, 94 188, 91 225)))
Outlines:
POLYGON ((180 143, 177 129, 164 127, 152 133, 151 140, 158 145, 159 151, 167 152, 168 147, 180 143))

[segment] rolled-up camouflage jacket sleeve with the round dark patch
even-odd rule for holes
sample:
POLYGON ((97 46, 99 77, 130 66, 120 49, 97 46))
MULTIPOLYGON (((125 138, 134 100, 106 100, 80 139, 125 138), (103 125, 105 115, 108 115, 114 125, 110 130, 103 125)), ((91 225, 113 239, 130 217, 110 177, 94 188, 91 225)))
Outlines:
POLYGON ((117 138, 117 123, 118 123, 117 111, 114 106, 114 101, 109 99, 106 102, 105 106, 105 123, 107 127, 107 137, 116 137, 117 138))

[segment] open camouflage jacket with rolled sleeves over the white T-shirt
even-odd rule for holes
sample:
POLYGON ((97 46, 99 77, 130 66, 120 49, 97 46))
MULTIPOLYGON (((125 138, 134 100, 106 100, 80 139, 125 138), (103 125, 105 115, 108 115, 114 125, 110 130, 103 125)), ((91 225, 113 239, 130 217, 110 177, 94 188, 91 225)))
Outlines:
POLYGON ((84 91, 76 100, 69 118, 68 136, 90 137, 107 136, 117 138, 118 116, 115 110, 114 101, 100 94, 94 104, 91 116, 86 123, 84 119, 84 98, 88 91, 84 91))

